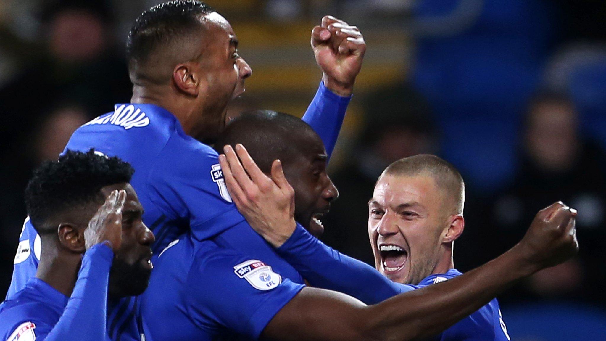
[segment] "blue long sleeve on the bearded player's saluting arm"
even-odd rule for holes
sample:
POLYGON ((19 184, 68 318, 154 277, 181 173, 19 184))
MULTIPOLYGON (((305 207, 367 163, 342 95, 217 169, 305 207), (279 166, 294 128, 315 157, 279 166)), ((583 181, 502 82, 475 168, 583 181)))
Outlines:
POLYGON ((85 252, 72 296, 45 341, 107 340, 107 286, 112 259, 113 251, 105 244, 85 252))

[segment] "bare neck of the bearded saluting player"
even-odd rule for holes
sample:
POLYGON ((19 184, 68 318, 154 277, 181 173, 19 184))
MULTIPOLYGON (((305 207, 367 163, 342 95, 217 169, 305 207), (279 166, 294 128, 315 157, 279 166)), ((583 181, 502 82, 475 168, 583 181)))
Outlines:
POLYGON ((42 248, 36 277, 66 296, 71 296, 82 257, 78 254, 63 254, 52 248, 42 248))

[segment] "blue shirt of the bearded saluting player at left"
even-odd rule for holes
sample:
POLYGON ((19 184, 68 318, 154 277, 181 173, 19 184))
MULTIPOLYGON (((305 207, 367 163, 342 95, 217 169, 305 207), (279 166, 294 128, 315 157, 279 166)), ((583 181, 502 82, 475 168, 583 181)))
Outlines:
POLYGON ((88 249, 71 297, 40 279, 29 279, 23 289, 0 304, 0 340, 110 340, 105 315, 112 259, 107 245, 88 249))

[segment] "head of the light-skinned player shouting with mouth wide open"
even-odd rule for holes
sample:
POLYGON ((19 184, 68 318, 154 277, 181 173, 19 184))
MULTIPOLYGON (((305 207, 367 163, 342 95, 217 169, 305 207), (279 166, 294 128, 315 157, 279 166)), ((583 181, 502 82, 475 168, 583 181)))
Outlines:
POLYGON ((415 155, 390 164, 368 201, 376 268, 407 284, 454 268, 453 244, 463 232, 464 203, 463 178, 447 161, 415 155))

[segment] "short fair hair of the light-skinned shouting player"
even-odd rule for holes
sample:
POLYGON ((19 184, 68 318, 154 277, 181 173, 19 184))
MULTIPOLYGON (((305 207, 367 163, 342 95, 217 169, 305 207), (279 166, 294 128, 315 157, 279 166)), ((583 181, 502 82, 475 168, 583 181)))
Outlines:
POLYGON ((429 175, 438 187, 445 191, 454 201, 457 214, 463 214, 465 206, 465 182, 459 170, 448 161, 436 155, 419 154, 402 158, 385 168, 379 180, 385 175, 412 177, 415 175, 429 175))

